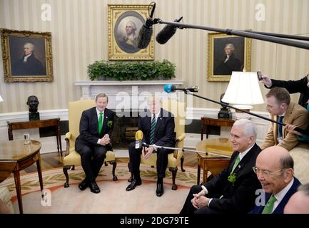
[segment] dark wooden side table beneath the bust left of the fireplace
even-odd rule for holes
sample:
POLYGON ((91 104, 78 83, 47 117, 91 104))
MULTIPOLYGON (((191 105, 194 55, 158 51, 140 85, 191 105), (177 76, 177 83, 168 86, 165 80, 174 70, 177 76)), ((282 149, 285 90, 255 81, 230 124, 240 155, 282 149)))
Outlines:
POLYGON ((25 122, 12 122, 8 123, 8 135, 9 140, 13 140, 13 130, 29 129, 29 128, 45 128, 54 126, 57 138, 57 150, 61 152, 62 157, 62 145, 61 145, 61 133, 60 133, 60 118, 49 119, 49 120, 34 120, 25 122), (60 151, 59 151, 60 146, 60 151))

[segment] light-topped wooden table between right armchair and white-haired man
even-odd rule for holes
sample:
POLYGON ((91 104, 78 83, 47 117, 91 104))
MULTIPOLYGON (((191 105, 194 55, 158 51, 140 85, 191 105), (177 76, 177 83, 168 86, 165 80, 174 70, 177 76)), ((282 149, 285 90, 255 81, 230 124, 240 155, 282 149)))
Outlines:
MULTIPOLYGON (((211 138, 203 140, 198 142, 196 145, 196 150, 213 152, 219 155, 227 156, 231 156, 233 154, 232 145, 228 138, 211 138)), ((226 157, 206 155, 201 152, 198 153, 198 185, 200 184, 201 167, 203 168, 203 183, 205 183, 207 182, 208 171, 215 176, 224 168, 228 167, 229 162, 230 159, 226 157)))

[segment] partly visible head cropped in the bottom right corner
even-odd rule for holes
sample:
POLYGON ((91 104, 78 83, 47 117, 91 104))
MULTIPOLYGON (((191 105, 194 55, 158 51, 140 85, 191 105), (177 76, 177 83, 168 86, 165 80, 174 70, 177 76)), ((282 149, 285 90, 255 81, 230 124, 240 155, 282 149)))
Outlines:
POLYGON ((309 214, 309 183, 298 187, 285 205, 284 214, 309 214))

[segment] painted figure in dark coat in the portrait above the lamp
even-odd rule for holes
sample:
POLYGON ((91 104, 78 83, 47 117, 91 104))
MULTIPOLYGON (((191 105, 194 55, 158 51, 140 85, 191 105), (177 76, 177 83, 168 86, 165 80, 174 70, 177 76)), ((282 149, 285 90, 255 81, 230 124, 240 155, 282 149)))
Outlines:
POLYGON ((234 54, 234 45, 233 43, 227 43, 224 51, 226 53, 225 58, 221 63, 216 67, 213 72, 214 75, 218 76, 231 76, 232 71, 242 71, 242 64, 234 54))

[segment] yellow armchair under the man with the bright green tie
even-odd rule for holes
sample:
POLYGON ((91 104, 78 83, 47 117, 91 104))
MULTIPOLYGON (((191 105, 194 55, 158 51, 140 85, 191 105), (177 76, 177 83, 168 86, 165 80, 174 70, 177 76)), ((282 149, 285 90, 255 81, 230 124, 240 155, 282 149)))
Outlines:
MULTIPOLYGON (((92 108, 95 106, 94 100, 77 100, 69 102, 69 133, 66 133, 66 154, 64 157, 64 175, 66 176, 66 182, 64 187, 69 187, 69 175, 68 170, 75 169, 76 165, 81 165, 81 155, 75 151, 75 140, 79 135, 79 121, 81 120, 81 113, 83 110, 92 108)), ((116 159, 113 151, 106 152, 106 159, 104 162, 109 162, 113 165, 113 180, 117 180, 115 175, 116 159)))

